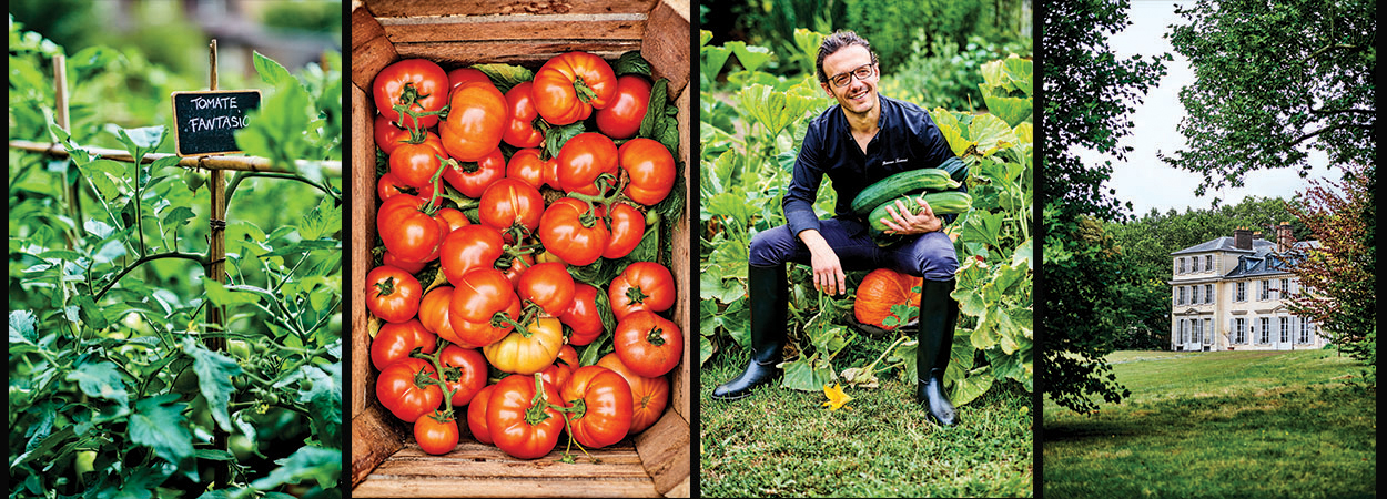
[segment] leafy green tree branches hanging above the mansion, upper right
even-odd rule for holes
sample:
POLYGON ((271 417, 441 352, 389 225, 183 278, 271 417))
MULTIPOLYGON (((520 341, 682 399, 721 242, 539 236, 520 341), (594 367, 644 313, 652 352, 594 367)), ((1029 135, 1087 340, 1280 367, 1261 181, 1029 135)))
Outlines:
POLYGON ((1175 51, 1196 80, 1180 90, 1187 148, 1161 159, 1204 175, 1205 189, 1258 169, 1373 162, 1376 0, 1200 0, 1176 10, 1175 51))

